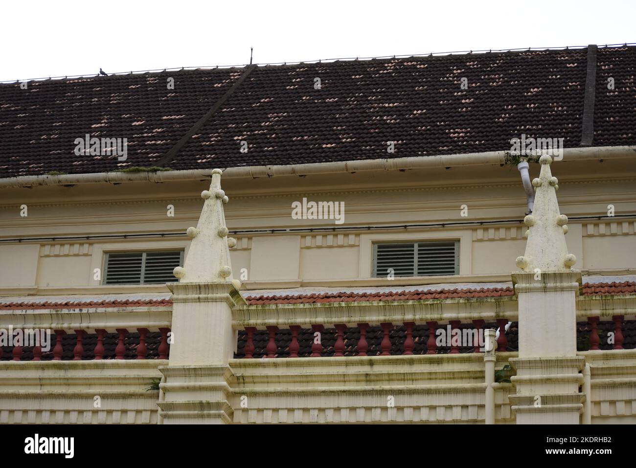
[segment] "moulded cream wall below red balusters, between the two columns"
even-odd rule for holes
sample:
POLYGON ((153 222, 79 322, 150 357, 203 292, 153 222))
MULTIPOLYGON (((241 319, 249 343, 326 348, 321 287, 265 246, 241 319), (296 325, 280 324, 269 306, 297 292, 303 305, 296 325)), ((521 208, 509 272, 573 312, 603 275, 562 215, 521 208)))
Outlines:
MULTIPOLYGON (((501 368, 516 353, 499 353, 501 368)), ((233 423, 483 423, 483 355, 235 359, 233 423)), ((495 421, 514 423, 510 384, 495 421)))

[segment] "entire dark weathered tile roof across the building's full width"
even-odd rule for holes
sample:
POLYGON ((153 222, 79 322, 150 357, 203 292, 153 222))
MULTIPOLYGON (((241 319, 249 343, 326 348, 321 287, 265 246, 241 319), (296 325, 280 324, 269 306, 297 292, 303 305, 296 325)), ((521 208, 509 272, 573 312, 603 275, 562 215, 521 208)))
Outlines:
MULTIPOLYGON (((574 147, 586 62, 583 48, 48 80, 26 90, 4 84, 0 177, 485 152, 508 150, 522 133, 574 147), (128 159, 76 156, 74 139, 86 133, 128 138, 128 159)), ((593 145, 636 144, 635 63, 635 47, 598 50, 593 145)))

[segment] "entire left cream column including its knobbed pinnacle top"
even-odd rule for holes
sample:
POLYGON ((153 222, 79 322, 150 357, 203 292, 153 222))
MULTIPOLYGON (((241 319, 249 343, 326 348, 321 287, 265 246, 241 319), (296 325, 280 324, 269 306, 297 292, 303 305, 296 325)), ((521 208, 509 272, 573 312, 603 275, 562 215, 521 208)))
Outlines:
POLYGON ((236 334, 232 309, 244 304, 240 283, 232 278, 230 246, 221 190, 220 169, 212 171, 210 190, 197 227, 188 228, 192 238, 183 267, 174 269, 178 283, 172 291, 172 329, 169 365, 160 367, 163 401, 158 402, 164 424, 230 423, 228 363, 233 357, 236 334))

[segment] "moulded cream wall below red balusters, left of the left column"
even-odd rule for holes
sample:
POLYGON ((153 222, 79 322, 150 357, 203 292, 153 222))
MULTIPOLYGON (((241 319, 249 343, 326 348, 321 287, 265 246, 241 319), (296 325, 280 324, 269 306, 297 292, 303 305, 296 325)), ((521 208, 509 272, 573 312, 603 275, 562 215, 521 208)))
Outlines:
POLYGON ((155 424, 167 360, 0 362, 0 424, 155 424))

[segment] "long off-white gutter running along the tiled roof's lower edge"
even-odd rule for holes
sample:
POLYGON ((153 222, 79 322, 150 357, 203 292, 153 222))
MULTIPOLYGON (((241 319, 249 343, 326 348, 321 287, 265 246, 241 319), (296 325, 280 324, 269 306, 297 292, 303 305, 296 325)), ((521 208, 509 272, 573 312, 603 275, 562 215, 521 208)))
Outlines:
MULTIPOLYGON (((287 166, 230 167, 223 178, 257 178, 308 174, 332 174, 361 171, 397 171, 401 169, 432 169, 435 167, 481 166, 506 164, 509 151, 467 153, 445 156, 417 156, 395 159, 365 159, 346 162, 317 162, 287 166)), ((636 157, 636 146, 590 146, 565 148, 563 161, 628 159, 636 157)), ((92 174, 60 174, 21 176, 0 179, 0 188, 32 187, 34 185, 75 185, 78 183, 169 182, 177 180, 208 180, 212 169, 158 172, 111 172, 92 174)))

